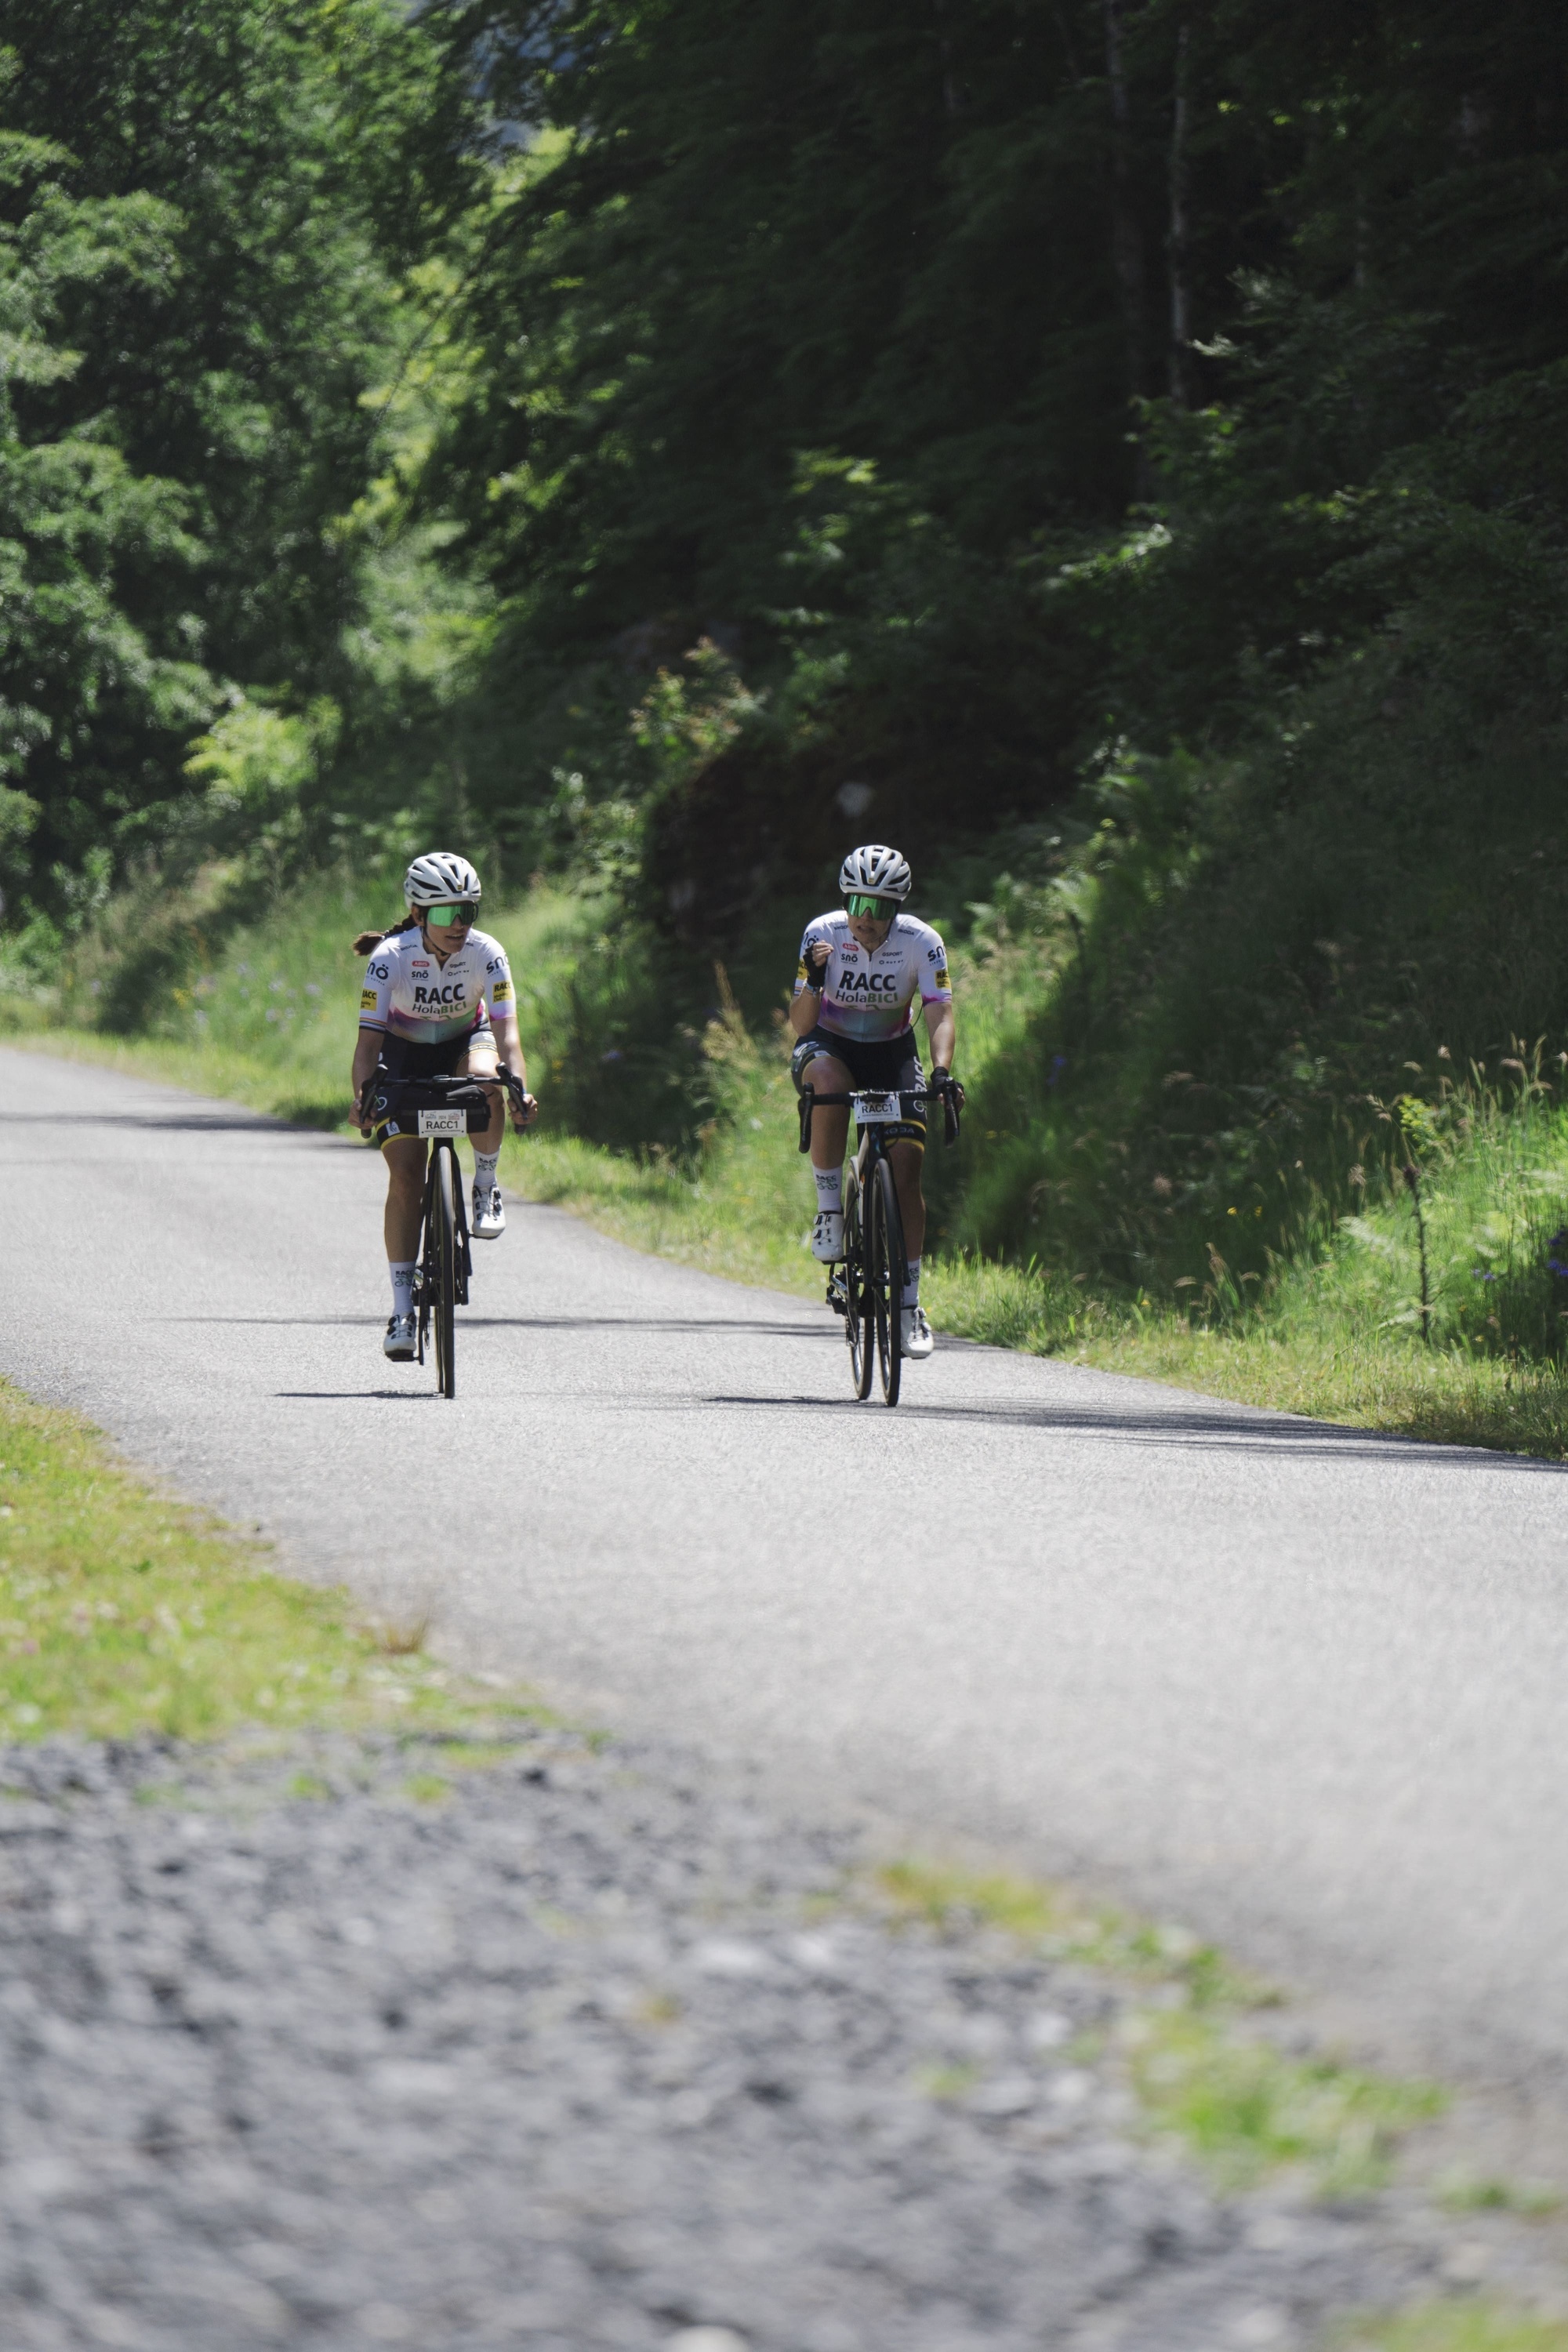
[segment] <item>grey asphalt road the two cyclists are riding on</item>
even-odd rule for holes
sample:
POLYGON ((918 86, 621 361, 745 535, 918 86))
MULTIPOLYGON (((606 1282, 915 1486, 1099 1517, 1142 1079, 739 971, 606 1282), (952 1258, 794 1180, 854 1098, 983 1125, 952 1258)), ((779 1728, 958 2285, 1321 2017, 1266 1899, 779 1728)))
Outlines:
POLYGON ((1566 1472, 940 1343, 856 1406, 825 1310, 517 1202, 444 1404, 369 1150, 5 1051, 0 1174, 0 1371, 306 1573, 1568 2107, 1566 1472))

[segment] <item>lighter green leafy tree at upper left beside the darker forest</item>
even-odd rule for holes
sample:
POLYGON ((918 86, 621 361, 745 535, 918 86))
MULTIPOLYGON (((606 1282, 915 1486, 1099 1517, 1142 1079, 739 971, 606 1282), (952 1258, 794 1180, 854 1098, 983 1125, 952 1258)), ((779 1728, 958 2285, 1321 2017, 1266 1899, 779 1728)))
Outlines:
MULTIPOLYGON (((120 877, 214 847, 186 748, 235 691, 343 699, 341 524, 383 463, 369 393, 421 332, 371 219, 397 181, 407 247, 435 202, 395 155, 444 99, 383 0, 49 0, 5 35, 0 694, 38 807, 9 873, 80 920, 101 851, 120 877)), ((221 835, 254 847, 280 797, 221 835)))

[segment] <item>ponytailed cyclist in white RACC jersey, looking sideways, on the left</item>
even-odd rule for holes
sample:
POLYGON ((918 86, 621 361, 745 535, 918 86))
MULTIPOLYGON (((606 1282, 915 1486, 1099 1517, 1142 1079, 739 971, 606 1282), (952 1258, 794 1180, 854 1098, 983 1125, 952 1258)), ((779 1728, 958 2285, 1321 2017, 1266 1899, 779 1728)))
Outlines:
MULTIPOLYGON (((527 1094, 529 1070, 517 1035, 517 1000, 505 948, 489 931, 475 931, 480 877, 468 858, 433 849, 414 858, 402 877, 407 915, 393 931, 362 931, 355 953, 369 955, 360 990, 360 1040, 355 1044, 355 1115, 371 1077, 487 1077, 496 1058, 524 1087, 524 1112, 512 1112, 522 1131, 538 1103, 527 1094)), ((473 1138, 475 1242, 505 1232, 505 1209, 496 1183, 496 1160, 505 1134, 503 1089, 487 1087, 491 1122, 473 1138)), ((371 1127, 360 1117, 360 1134, 371 1127)), ((425 1192, 425 1145, 418 1136, 376 1129, 386 1157, 386 1256, 393 1277, 393 1317, 383 1350, 395 1364, 414 1362, 414 1251, 425 1192)))

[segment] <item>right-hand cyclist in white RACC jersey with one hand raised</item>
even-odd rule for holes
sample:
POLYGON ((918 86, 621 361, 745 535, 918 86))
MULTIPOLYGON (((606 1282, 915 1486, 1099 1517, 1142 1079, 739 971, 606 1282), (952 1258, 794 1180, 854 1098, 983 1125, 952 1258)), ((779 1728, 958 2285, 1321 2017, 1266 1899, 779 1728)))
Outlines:
MULTIPOLYGON (((952 1084, 952 985, 947 950, 929 922, 903 913, 910 896, 910 863, 882 842, 851 849, 839 868, 844 906, 806 924, 795 974, 790 1028, 799 1037, 790 1056, 797 1089, 846 1094, 851 1087, 882 1091, 922 1084, 914 1051, 914 997, 931 1037, 931 1091, 952 1084)), ((898 1185, 907 1282, 903 1289, 903 1352, 919 1362, 936 1341, 919 1303, 919 1256, 926 1237, 922 1160, 926 1122, 900 1120, 889 1134, 889 1160, 898 1185), (898 1141, 893 1141, 898 1138, 898 1141)), ((844 1145, 846 1105, 818 1110, 811 1120, 811 1174, 816 1176, 816 1225, 811 1254, 827 1265, 844 1256, 844 1145)))

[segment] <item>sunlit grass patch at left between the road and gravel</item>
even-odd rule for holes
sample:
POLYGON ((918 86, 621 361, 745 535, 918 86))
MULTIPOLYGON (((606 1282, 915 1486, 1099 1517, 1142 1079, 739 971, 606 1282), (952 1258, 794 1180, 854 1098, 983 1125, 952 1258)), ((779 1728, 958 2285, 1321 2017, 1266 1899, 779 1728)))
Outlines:
POLYGON ((0 1740, 461 1731, 494 1712, 343 1592, 273 1573, 261 1545, 158 1494, 73 1414, 0 1383, 0 1740))

